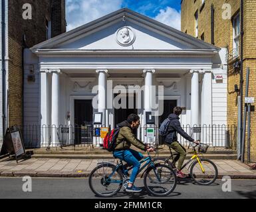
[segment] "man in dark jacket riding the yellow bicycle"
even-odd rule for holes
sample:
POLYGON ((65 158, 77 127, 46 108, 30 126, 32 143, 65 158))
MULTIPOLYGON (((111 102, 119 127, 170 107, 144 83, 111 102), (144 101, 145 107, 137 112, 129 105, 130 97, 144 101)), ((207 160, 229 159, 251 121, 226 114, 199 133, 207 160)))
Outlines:
POLYGON ((176 162, 178 162, 177 172, 176 175, 179 178, 186 178, 186 175, 182 173, 182 164, 186 158, 186 149, 178 142, 177 132, 183 136, 186 140, 190 142, 194 142, 195 144, 199 144, 199 140, 194 140, 191 136, 189 136, 180 126, 180 118, 179 116, 182 114, 182 107, 174 107, 174 113, 168 116, 170 119, 170 124, 168 126, 168 134, 165 137, 164 142, 168 144, 175 152, 178 153, 176 158, 174 158, 174 166, 176 162))

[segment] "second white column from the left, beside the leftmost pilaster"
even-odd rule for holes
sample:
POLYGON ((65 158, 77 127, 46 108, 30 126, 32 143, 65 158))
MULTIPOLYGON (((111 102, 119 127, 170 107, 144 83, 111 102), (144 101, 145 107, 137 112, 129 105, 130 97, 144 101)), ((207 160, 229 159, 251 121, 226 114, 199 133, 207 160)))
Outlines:
POLYGON ((57 135, 58 129, 59 129, 59 74, 61 73, 61 70, 51 70, 53 73, 52 75, 52 142, 53 146, 57 146, 59 144, 59 138, 57 135))

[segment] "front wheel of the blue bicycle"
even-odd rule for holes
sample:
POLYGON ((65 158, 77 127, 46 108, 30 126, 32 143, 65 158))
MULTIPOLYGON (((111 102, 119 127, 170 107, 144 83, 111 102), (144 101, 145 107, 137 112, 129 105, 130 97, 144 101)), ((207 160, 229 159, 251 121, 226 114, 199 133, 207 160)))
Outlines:
POLYGON ((174 191, 177 177, 170 166, 156 164, 146 170, 144 185, 148 193, 157 197, 164 197, 174 191))

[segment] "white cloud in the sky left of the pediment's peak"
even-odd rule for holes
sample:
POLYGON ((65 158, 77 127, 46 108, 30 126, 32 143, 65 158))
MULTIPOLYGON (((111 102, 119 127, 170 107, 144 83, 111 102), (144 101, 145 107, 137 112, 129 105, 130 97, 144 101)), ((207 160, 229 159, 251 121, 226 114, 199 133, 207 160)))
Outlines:
POLYGON ((122 7, 122 0, 66 0, 66 30, 94 21, 122 7))

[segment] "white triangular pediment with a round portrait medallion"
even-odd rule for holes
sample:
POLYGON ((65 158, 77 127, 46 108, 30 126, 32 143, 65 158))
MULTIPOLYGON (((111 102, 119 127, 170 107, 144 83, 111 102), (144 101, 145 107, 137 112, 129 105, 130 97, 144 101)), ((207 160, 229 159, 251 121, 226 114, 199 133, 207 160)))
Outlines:
POLYGON ((60 50, 219 50, 129 9, 120 9, 33 46, 60 50))

